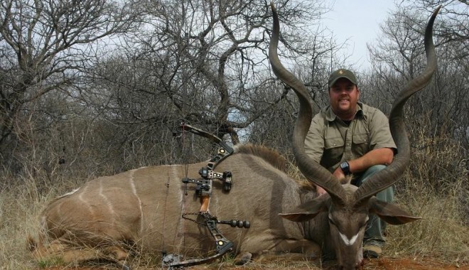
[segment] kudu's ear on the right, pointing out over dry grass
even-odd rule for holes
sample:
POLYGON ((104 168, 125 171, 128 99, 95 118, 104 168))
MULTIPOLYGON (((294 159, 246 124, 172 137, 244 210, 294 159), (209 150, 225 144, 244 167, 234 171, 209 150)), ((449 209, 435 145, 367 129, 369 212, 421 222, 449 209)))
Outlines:
POLYGON ((393 203, 383 202, 376 197, 370 198, 368 203, 370 213, 378 215, 382 220, 392 225, 401 225, 421 219, 421 217, 412 216, 393 203))

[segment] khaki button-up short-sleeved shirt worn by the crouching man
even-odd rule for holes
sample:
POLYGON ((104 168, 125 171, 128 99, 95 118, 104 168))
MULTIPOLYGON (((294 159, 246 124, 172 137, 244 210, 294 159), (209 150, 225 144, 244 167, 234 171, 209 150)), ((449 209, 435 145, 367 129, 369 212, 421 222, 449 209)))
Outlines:
POLYGON ((360 158, 377 148, 393 148, 396 152, 389 121, 379 109, 361 102, 358 102, 355 119, 348 126, 330 106, 321 109, 313 118, 305 139, 308 156, 330 172, 343 161, 360 158))

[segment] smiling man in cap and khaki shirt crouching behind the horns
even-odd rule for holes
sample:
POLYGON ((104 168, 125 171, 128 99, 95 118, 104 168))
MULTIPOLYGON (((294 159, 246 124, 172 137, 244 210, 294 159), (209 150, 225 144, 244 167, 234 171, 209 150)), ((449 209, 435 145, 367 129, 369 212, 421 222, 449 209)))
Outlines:
MULTIPOLYGON (((330 104, 313 118, 305 140, 306 153, 338 180, 352 175, 351 183, 360 186, 392 162, 396 144, 389 122, 379 109, 358 102, 360 90, 350 70, 335 70, 328 87, 330 104)), ((318 195, 326 193, 319 186, 316 190, 318 195)), ((376 195, 385 202, 392 202, 393 196, 394 187, 376 195)), ((364 257, 379 257, 385 243, 385 227, 379 217, 370 216, 363 241, 364 257)))

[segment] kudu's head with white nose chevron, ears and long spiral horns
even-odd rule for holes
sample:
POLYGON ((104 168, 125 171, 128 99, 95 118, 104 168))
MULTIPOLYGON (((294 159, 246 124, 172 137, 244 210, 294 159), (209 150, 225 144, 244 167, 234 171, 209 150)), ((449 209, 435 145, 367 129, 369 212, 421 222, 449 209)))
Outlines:
POLYGON ((440 7, 433 12, 425 32, 425 50, 427 65, 424 72, 411 80, 394 100, 389 116, 392 137, 397 145, 397 155, 392 164, 379 173, 375 173, 360 188, 350 184, 341 185, 339 180, 319 163, 308 157, 304 150, 304 140, 308 133, 313 110, 310 96, 303 82, 298 80, 280 63, 277 55, 279 43, 279 18, 274 4, 271 4, 274 16, 274 28, 269 45, 269 60, 272 70, 286 85, 289 85, 298 96, 300 109, 293 130, 293 153, 301 173, 311 182, 324 188, 328 195, 303 203, 296 210, 281 214, 289 220, 303 222, 316 217, 320 212, 328 213, 328 241, 333 243, 335 257, 341 269, 358 269, 362 262, 362 240, 368 215, 376 214, 385 222, 401 225, 419 219, 401 210, 397 205, 382 202, 374 197, 376 193, 393 185, 406 170, 410 160, 409 138, 404 125, 403 107, 407 99, 422 90, 431 80, 436 70, 436 54, 433 46, 432 29, 440 7))

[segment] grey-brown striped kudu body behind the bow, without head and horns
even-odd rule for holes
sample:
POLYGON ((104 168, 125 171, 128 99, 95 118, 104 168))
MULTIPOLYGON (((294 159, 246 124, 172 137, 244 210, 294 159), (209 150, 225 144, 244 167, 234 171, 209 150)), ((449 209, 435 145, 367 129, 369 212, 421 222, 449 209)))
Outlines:
MULTIPOLYGON (((199 198, 190 190, 193 187, 185 190, 181 181, 185 171, 188 178, 200 178, 198 171, 206 165, 137 168, 85 183, 45 207, 40 216, 42 240, 31 242, 33 254, 38 259, 120 261, 128 256, 129 245, 134 245, 156 256, 163 250, 187 257, 207 256, 215 245, 206 227, 181 219, 185 212, 200 210, 199 198)), ((218 225, 234 243, 240 262, 265 251, 293 252, 310 259, 319 256, 318 246, 306 237, 313 232, 279 217, 313 195, 302 192, 282 168, 284 159, 278 153, 250 145, 235 147, 215 168, 230 171, 233 185, 225 193, 222 183, 214 182, 210 213, 220 220, 251 223, 249 229, 218 225)))

